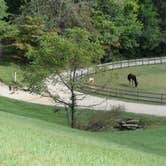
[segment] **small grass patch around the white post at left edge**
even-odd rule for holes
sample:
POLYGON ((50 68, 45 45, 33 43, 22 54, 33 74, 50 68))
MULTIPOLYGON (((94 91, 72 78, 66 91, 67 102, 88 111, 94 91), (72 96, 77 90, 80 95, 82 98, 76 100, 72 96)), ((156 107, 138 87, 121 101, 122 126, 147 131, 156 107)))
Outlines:
POLYGON ((22 71, 20 67, 13 63, 1 63, 0 64, 0 80, 6 84, 13 84, 14 73, 17 72, 17 84, 22 84, 22 71))

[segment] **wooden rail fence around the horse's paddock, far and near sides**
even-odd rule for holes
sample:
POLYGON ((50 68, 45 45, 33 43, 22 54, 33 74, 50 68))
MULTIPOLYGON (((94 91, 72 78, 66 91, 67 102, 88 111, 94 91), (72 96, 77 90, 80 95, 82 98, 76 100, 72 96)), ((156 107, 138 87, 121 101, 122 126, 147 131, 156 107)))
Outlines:
MULTIPOLYGON (((166 63, 166 57, 154 57, 154 58, 142 58, 142 59, 132 59, 123 60, 117 62, 111 62, 106 64, 100 64, 96 68, 87 68, 77 71, 78 77, 84 77, 86 75, 95 74, 99 72, 106 72, 109 70, 141 66, 141 65, 152 65, 152 64, 162 64, 166 63)), ((84 85, 81 87, 82 90, 87 92, 92 92, 99 95, 105 95, 110 97, 119 97, 124 99, 143 101, 143 102, 153 102, 159 104, 166 104, 166 93, 155 93, 146 92, 143 90, 127 90, 122 88, 105 88, 101 86, 89 86, 84 85)))

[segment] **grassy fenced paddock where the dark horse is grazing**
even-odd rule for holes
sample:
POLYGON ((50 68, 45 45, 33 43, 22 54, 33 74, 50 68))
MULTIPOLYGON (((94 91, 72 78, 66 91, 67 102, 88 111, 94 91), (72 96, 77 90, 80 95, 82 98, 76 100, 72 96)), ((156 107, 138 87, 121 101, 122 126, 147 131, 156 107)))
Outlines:
POLYGON ((96 85, 110 88, 135 89, 129 86, 127 76, 133 73, 138 79, 138 89, 166 93, 166 64, 136 66, 95 75, 96 85))

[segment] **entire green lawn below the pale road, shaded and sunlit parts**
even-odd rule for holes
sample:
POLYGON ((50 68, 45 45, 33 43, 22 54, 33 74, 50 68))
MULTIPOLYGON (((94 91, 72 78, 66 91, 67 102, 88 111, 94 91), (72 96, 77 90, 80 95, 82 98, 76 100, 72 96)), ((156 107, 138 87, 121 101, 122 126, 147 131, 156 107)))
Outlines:
MULTIPOLYGON (((0 98, 0 103, 0 165, 166 165, 166 118, 124 113, 153 120, 156 127, 134 132, 87 132, 69 128, 61 108, 54 113, 53 107, 7 98, 0 98)), ((95 113, 88 112, 81 110, 83 120, 95 113)))

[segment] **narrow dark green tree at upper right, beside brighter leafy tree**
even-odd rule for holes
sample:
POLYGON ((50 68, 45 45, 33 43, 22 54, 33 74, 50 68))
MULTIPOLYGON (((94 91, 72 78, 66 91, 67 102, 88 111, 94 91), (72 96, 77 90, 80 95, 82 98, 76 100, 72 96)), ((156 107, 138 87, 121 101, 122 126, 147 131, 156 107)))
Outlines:
POLYGON ((140 48, 143 50, 153 50, 160 42, 160 29, 158 13, 152 0, 139 1, 139 20, 143 24, 142 35, 140 37, 140 48))

